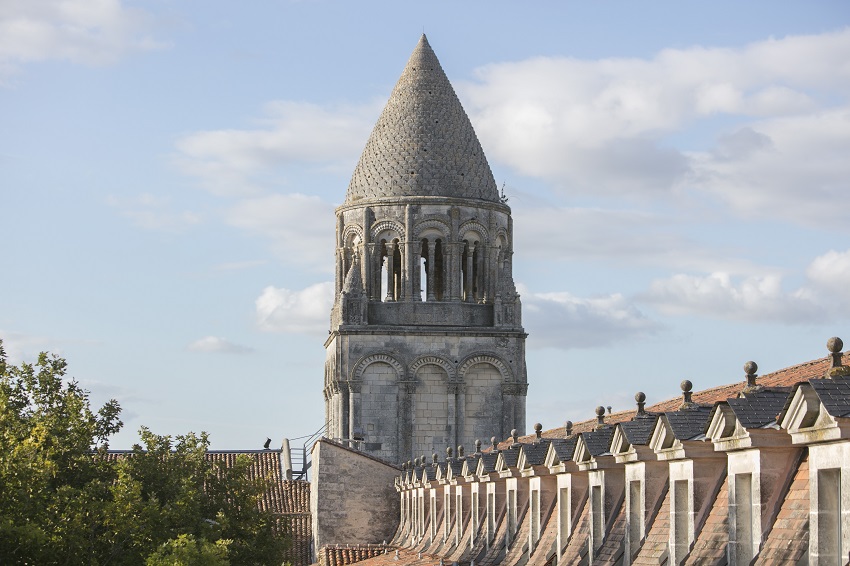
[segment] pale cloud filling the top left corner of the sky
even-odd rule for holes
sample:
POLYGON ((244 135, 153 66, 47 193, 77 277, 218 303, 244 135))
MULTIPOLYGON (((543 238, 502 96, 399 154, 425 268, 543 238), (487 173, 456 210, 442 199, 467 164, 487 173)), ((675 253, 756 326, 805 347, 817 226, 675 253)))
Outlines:
POLYGON ((23 63, 60 59, 114 63, 160 49, 148 13, 120 0, 5 0, 0 3, 0 76, 23 63))

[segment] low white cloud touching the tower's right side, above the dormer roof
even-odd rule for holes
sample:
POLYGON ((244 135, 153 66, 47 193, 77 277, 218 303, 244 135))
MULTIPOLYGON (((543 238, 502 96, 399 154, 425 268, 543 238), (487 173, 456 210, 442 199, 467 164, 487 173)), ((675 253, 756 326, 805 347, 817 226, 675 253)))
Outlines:
POLYGON ((532 348, 598 348, 661 329, 620 294, 582 298, 566 292, 532 293, 522 286, 520 292, 523 325, 534 335, 532 348))

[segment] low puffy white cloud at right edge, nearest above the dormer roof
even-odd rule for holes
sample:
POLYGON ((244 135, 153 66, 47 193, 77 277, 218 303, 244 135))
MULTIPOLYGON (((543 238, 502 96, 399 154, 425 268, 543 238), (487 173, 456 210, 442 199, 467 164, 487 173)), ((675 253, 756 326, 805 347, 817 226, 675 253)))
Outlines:
POLYGON ((640 300, 671 315, 805 324, 850 316, 850 250, 815 258, 806 281, 787 289, 780 275, 677 274, 658 279, 640 300))

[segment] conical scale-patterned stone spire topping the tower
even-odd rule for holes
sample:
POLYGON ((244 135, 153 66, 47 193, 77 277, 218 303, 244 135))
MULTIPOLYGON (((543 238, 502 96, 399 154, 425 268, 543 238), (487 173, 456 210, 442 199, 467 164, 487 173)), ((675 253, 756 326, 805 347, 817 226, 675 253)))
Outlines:
POLYGON ((472 123, 424 34, 372 130, 346 203, 419 196, 499 202, 472 123))

